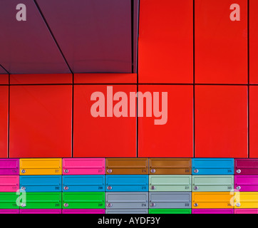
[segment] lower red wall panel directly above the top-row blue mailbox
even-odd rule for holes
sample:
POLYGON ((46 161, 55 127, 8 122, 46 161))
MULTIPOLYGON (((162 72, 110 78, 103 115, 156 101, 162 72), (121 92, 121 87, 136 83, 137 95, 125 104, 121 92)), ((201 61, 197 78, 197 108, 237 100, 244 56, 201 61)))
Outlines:
POLYGON ((247 86, 195 87, 195 156, 247 157, 247 86))

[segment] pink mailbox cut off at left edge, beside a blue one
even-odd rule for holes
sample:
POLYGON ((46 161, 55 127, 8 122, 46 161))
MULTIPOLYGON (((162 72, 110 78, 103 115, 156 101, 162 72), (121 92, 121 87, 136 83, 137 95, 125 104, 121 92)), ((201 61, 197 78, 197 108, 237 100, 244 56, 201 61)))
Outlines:
POLYGON ((0 192, 16 192, 19 190, 18 175, 0 175, 0 192))

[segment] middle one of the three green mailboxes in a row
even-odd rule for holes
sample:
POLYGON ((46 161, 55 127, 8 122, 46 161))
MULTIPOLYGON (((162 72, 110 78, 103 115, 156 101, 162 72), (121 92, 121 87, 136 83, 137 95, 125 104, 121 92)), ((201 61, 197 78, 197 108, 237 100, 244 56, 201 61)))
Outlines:
POLYGON ((21 209, 61 209, 61 192, 21 192, 21 209))

